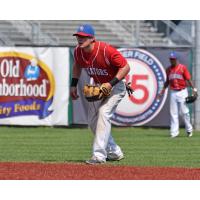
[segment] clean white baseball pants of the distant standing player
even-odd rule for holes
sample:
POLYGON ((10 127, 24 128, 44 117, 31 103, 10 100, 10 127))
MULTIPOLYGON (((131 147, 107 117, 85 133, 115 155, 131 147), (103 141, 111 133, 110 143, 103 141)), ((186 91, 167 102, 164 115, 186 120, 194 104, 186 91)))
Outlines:
POLYGON ((172 137, 179 134, 179 114, 184 120, 186 132, 192 132, 189 109, 185 103, 187 96, 187 88, 180 91, 170 90, 170 134, 172 137))

